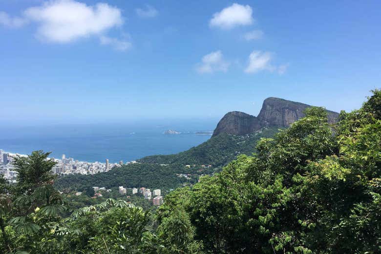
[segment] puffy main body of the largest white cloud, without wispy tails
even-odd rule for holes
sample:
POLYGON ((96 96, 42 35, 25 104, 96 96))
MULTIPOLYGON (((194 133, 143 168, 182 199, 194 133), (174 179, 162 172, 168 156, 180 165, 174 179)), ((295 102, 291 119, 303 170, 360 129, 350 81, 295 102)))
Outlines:
POLYGON ((49 1, 25 10, 27 19, 38 23, 37 36, 51 42, 70 42, 101 35, 123 23, 121 10, 106 3, 88 6, 75 0, 49 1))

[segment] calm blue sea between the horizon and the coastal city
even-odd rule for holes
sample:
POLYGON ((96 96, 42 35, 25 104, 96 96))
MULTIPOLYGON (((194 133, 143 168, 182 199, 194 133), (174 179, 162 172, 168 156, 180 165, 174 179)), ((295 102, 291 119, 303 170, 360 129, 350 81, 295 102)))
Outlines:
POLYGON ((174 154, 188 150, 211 136, 196 135, 212 131, 215 121, 154 122, 134 124, 82 124, 34 127, 0 126, 0 149, 30 154, 35 150, 52 152, 51 156, 82 161, 119 162, 144 156, 174 154), (184 132, 165 135, 172 129, 184 132))

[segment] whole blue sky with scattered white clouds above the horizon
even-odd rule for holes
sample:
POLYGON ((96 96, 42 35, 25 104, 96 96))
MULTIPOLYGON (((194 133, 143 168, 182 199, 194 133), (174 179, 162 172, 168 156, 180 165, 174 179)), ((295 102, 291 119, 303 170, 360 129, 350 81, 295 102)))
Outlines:
POLYGON ((0 0, 3 123, 219 119, 280 97, 359 108, 380 1, 0 0))

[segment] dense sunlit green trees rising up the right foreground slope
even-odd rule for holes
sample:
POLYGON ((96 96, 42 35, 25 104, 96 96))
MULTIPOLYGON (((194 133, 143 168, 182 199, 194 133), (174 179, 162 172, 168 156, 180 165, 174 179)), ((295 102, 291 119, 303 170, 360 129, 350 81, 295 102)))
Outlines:
POLYGON ((380 253, 380 103, 376 90, 337 126, 307 109, 254 156, 168 195, 158 218, 185 211, 212 253, 380 253))

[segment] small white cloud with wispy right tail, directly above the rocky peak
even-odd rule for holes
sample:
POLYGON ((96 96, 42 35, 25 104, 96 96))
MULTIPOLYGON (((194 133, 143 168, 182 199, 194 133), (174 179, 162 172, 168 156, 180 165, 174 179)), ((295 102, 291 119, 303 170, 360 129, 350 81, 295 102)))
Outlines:
POLYGON ((279 75, 286 72, 288 64, 275 66, 271 63, 273 54, 271 52, 262 52, 254 50, 249 56, 249 64, 245 69, 246 73, 257 73, 260 71, 276 71, 279 75))

